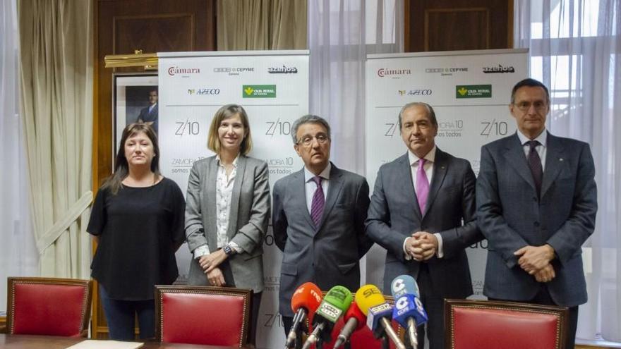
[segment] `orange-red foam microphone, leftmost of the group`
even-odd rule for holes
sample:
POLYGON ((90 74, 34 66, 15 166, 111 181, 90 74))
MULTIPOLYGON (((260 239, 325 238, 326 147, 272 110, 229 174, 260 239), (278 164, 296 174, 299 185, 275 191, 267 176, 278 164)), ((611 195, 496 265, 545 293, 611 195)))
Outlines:
POLYGON ((296 339, 301 327, 304 327, 306 316, 312 314, 319 307, 321 302, 321 290, 312 282, 301 284, 291 296, 291 310, 294 311, 294 319, 291 324, 291 330, 287 336, 285 348, 294 348, 296 339))

